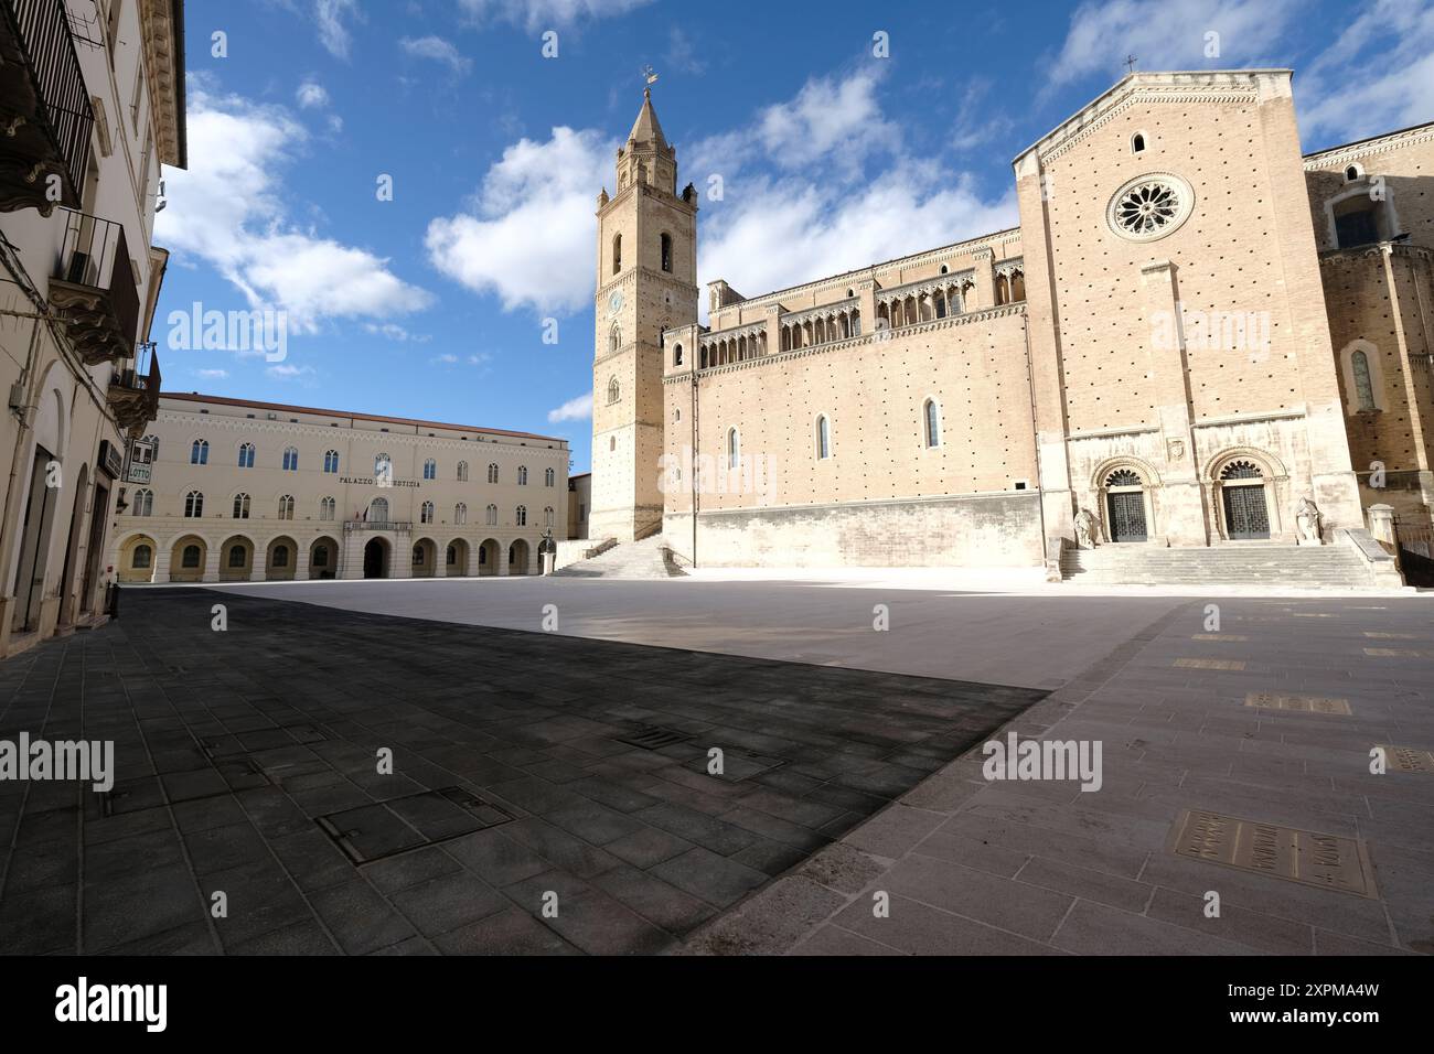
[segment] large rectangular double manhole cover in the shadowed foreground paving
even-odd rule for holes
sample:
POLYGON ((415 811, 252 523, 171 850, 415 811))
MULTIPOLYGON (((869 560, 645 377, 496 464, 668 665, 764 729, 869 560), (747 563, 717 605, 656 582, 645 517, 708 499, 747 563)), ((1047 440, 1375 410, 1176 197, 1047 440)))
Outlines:
POLYGON ((350 860, 373 863, 511 819, 512 815, 469 790, 443 787, 328 813, 317 822, 350 860))

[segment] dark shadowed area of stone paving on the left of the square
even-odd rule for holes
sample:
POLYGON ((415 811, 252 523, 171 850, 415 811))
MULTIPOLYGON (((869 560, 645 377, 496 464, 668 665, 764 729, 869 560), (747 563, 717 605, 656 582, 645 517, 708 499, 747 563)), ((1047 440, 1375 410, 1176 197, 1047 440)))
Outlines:
POLYGON ((0 664, 0 734, 118 751, 103 799, 0 786, 0 951, 668 951, 1044 695, 224 599, 0 664))

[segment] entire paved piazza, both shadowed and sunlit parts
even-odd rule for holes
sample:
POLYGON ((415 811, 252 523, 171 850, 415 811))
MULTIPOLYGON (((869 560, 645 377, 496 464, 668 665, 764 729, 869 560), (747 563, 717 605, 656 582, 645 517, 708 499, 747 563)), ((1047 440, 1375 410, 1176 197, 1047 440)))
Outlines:
POLYGON ((110 739, 118 771, 0 783, 13 952, 1434 951, 1427 597, 529 578, 122 604, 0 663, 0 737, 110 739), (1098 743, 1098 790, 988 782, 1011 733, 1098 743))

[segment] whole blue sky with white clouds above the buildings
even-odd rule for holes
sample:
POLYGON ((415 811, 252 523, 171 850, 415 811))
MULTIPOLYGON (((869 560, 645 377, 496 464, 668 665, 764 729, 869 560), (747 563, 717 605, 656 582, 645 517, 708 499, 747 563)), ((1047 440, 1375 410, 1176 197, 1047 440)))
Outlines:
POLYGON ((185 11, 189 171, 166 171, 155 232, 174 254, 152 333, 165 387, 558 435, 578 472, 592 214, 645 65, 680 184, 723 178, 701 202, 700 281, 747 295, 1015 224, 1011 158, 1127 54, 1293 67, 1306 151, 1434 119, 1434 6, 1412 0, 185 11), (171 347, 169 314, 194 303, 282 310, 285 359, 171 347))

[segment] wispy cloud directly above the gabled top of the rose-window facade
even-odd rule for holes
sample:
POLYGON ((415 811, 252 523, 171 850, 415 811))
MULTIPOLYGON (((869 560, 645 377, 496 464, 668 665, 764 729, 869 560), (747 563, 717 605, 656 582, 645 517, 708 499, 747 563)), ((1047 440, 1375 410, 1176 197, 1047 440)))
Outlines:
POLYGON ((1282 50, 1302 6, 1304 0, 1084 3, 1071 16, 1043 96, 1093 75, 1114 83, 1127 72, 1127 54, 1143 70, 1235 69, 1266 59, 1282 50), (1207 54, 1209 33, 1219 34, 1217 54, 1207 54))

